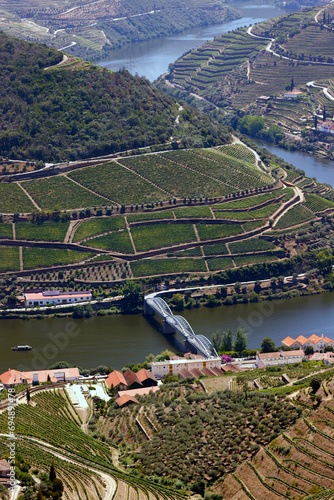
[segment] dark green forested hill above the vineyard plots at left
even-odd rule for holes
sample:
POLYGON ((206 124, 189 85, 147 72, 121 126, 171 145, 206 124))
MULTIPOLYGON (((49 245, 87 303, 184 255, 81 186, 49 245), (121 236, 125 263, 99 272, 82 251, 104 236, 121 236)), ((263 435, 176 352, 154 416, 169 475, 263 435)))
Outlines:
POLYGON ((181 146, 226 142, 223 126, 180 108, 145 78, 87 64, 54 66, 62 57, 0 33, 0 155, 58 162, 171 137, 181 146))

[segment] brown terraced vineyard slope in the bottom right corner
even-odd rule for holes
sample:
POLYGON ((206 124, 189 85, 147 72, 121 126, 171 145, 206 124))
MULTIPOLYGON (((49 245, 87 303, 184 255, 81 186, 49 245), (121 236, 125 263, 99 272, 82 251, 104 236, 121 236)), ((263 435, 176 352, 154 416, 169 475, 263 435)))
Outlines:
POLYGON ((333 413, 331 399, 239 466, 216 491, 224 490, 227 500, 242 490, 249 498, 333 498, 333 413))

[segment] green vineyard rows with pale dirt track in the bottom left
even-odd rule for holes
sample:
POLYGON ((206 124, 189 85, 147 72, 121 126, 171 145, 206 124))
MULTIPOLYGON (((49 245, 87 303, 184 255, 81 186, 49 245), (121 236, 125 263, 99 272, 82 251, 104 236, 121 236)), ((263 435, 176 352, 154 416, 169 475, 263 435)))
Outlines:
MULTIPOLYGON (((139 500, 186 497, 182 491, 155 485, 117 469, 112 463, 113 448, 82 431, 82 421, 63 390, 40 392, 32 396, 32 401, 33 404, 20 404, 16 408, 17 452, 29 460, 30 467, 41 470, 50 468, 54 460, 64 483, 65 498, 102 498, 106 492, 109 496, 111 483, 115 484, 113 498, 124 498, 119 495, 127 490, 139 500)), ((6 412, 0 415, 1 433, 6 433, 6 417, 6 412)), ((1 437, 0 450, 6 447, 8 443, 1 437)))

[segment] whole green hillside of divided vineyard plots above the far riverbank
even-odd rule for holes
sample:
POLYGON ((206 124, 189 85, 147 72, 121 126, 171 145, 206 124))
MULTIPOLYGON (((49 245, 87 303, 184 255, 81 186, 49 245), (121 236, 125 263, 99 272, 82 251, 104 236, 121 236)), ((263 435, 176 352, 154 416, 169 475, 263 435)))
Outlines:
POLYGON ((312 270, 332 245, 333 191, 262 155, 265 163, 234 143, 2 182, 0 272, 18 272, 20 292, 37 284, 98 289, 147 276, 230 283, 312 270))

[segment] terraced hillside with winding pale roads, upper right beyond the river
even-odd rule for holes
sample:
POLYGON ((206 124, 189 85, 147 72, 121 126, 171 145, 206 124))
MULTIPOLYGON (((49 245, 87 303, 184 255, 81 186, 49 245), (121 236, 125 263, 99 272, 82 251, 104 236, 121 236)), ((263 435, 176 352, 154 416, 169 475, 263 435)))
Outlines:
POLYGON ((314 115, 334 114, 333 18, 329 4, 227 33, 178 59, 160 85, 193 104, 189 92, 228 114, 262 116, 267 127, 280 127, 265 139, 332 157, 333 139, 314 130, 314 115), (291 83, 297 99, 284 96, 291 83))

